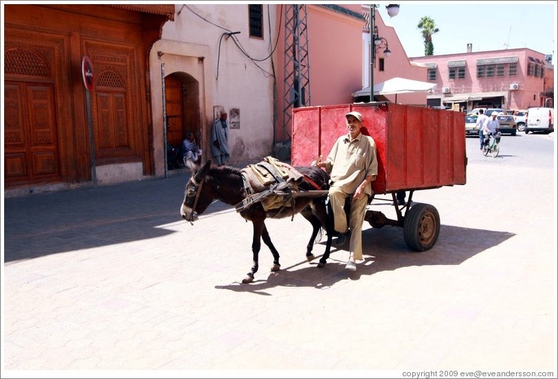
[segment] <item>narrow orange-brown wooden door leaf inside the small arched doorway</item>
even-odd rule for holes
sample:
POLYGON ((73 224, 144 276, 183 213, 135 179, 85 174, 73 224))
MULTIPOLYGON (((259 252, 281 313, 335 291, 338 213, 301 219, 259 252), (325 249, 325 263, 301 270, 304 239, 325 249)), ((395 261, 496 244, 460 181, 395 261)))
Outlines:
POLYGON ((184 100, 182 82, 174 76, 165 78, 165 97, 166 97, 166 117, 167 129, 166 136, 168 142, 175 146, 180 146, 184 140, 184 100))

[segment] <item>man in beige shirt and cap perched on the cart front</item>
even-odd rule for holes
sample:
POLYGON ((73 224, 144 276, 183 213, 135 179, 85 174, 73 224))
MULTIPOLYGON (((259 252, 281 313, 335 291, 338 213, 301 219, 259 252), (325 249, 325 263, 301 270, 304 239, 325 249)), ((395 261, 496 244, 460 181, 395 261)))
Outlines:
POLYGON ((362 115, 350 112, 345 115, 348 134, 335 141, 326 161, 315 165, 326 169, 331 176, 329 201, 333 209, 335 230, 339 240, 344 241, 350 230, 349 260, 345 266, 356 271, 356 261, 362 260, 362 223, 366 214, 368 198, 372 196, 370 182, 378 174, 376 143, 372 137, 361 133, 362 115), (350 215, 344 210, 345 199, 352 196, 350 215))

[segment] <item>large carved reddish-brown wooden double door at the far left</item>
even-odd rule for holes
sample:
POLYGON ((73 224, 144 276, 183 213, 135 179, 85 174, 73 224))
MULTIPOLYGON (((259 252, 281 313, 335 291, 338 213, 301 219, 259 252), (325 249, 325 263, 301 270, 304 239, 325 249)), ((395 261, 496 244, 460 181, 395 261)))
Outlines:
POLYGON ((6 185, 60 179, 54 86, 4 84, 4 179, 6 185))

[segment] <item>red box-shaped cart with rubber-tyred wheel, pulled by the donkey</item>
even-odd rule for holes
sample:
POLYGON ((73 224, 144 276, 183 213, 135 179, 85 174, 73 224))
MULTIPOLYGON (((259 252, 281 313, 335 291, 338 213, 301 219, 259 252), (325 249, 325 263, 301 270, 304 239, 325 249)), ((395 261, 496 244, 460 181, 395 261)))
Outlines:
POLYGON ((414 251, 431 249, 440 232, 438 210, 412 202, 415 190, 466 183, 465 116, 460 112, 407 106, 390 102, 309 106, 293 109, 291 164, 309 165, 325 159, 335 140, 347 133, 345 114, 362 114, 363 126, 376 142, 378 176, 374 195, 391 194, 397 220, 368 209, 372 227, 403 228, 405 243, 414 251), (409 192, 397 205, 396 192, 409 192))

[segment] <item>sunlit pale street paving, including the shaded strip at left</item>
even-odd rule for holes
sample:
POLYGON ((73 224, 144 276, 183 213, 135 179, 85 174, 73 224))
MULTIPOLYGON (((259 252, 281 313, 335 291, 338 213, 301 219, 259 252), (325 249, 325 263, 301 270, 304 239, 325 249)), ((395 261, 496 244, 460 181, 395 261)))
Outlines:
MULTIPOLYGON (((185 172, 5 198, 2 378, 555 376, 555 168, 472 159, 476 143, 467 185, 414 193, 440 213, 434 248, 414 253, 402 229, 364 225, 355 273, 335 246, 325 268, 306 262, 298 215, 267 222, 282 269, 269 271, 263 245, 242 284, 252 225, 223 203, 181 220, 185 172)), ((381 196, 372 209, 394 217, 381 196)))

